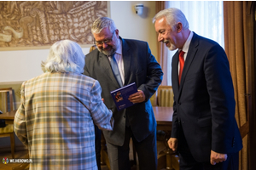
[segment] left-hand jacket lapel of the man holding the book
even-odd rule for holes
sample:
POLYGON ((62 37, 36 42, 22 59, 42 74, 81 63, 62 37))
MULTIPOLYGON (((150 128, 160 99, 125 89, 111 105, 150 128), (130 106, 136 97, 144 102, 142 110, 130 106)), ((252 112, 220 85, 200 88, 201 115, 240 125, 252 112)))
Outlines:
POLYGON ((102 68, 102 72, 105 74, 106 77, 109 77, 110 80, 114 83, 117 88, 119 87, 119 83, 116 81, 115 77, 113 76, 113 71, 108 60, 108 57, 102 53, 99 53, 99 66, 102 68))

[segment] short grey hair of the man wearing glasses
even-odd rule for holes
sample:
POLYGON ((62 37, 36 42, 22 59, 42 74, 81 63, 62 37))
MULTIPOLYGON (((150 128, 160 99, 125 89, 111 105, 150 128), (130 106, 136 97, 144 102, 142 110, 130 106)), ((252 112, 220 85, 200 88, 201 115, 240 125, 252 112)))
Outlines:
POLYGON ((111 32, 116 30, 116 26, 113 20, 108 17, 100 17, 93 22, 90 31, 92 33, 98 34, 106 27, 108 27, 109 31, 111 32))

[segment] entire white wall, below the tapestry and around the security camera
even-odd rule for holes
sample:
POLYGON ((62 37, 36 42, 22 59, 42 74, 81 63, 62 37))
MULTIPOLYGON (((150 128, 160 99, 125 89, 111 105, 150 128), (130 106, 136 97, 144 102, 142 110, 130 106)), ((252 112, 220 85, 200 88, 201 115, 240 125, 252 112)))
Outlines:
MULTIPOLYGON (((108 3, 110 17, 123 38, 148 42, 152 54, 156 55, 156 33, 152 18, 155 14, 154 1, 112 1, 108 3), (135 13, 134 5, 144 4, 143 15, 135 13)), ((83 48, 84 54, 89 48, 83 48)), ((20 82, 42 74, 41 61, 45 60, 49 49, 0 51, 0 83, 20 82)))

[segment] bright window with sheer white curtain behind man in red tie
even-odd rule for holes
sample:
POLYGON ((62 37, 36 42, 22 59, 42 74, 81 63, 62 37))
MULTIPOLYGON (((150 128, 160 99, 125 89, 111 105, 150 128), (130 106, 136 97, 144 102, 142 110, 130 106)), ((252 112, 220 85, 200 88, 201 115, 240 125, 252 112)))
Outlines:
MULTIPOLYGON (((179 8, 189 21, 189 30, 218 42, 224 48, 223 1, 170 1, 169 8, 179 8)), ((172 56, 170 51, 167 62, 167 85, 172 86, 172 56)))

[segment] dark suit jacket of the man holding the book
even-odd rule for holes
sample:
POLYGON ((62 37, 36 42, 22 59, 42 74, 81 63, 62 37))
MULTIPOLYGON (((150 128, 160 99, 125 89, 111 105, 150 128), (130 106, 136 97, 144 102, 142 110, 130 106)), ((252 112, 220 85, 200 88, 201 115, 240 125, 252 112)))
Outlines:
POLYGON ((125 138, 125 116, 131 124, 131 130, 137 141, 142 141, 154 132, 156 121, 149 98, 161 83, 163 72, 154 59, 147 42, 122 39, 122 53, 125 67, 125 85, 136 82, 137 88, 145 94, 143 103, 117 111, 110 92, 120 88, 113 76, 110 62, 106 55, 97 49, 85 57, 84 74, 98 80, 102 86, 102 98, 105 105, 113 111, 113 131, 103 131, 108 142, 123 145, 125 138))

